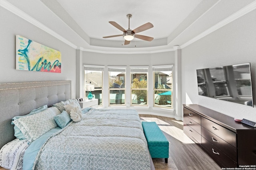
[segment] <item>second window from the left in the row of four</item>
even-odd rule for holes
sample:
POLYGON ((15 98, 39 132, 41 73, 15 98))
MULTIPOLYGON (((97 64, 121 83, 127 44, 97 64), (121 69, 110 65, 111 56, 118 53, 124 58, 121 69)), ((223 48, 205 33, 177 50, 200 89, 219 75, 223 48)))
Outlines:
POLYGON ((125 67, 108 68, 109 105, 125 105, 125 67))

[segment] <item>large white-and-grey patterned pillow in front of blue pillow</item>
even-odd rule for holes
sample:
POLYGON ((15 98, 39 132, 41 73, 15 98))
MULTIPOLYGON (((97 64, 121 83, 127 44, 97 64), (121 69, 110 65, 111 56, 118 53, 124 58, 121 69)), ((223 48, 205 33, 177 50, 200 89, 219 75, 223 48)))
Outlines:
POLYGON ((58 126, 54 120, 54 117, 58 114, 60 114, 58 108, 50 107, 40 114, 21 117, 12 121, 12 123, 20 129, 29 142, 32 142, 58 126))

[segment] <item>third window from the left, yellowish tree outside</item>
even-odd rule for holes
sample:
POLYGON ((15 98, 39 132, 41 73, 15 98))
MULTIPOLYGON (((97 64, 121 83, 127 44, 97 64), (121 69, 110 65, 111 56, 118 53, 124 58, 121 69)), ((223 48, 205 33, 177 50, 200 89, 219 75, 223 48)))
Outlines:
POLYGON ((131 104, 148 105, 148 67, 131 67, 131 104))

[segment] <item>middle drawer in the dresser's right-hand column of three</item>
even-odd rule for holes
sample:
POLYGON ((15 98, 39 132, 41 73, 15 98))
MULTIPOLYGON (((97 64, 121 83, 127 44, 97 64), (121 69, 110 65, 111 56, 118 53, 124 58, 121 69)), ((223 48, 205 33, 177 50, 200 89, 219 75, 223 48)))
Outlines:
MULTIPOLYGON (((229 156, 232 160, 236 161, 236 148, 222 140, 220 137, 214 135, 212 132, 208 131, 204 127, 202 127, 202 137, 204 137, 207 141, 212 143, 216 148, 224 152, 227 156, 229 156)), ((202 140, 203 142, 203 140, 202 140)))

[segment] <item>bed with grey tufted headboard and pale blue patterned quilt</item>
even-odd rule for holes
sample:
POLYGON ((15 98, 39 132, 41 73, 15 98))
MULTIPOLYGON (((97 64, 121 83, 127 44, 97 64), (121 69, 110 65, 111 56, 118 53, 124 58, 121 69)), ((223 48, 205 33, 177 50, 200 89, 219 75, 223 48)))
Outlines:
MULTIPOLYGON (((71 120, 65 126, 53 125, 54 128, 51 127, 54 122, 50 122, 49 125, 48 119, 48 122, 44 122, 43 119, 47 116, 40 117, 42 112, 56 118, 64 112, 56 104, 69 101, 66 106, 71 105, 70 89, 70 81, 0 84, 0 108, 3 117, 0 120, 0 131, 5 132, 0 133, 0 148, 5 148, 9 154, 12 152, 18 155, 15 161, 7 161, 9 164, 15 164, 15 167, 5 168, 24 170, 154 168, 150 161, 140 118, 135 110, 85 108, 81 111, 81 120, 78 122, 71 120), (42 132, 36 132, 39 134, 24 133, 26 139, 16 139, 14 126, 11 125, 12 118, 26 115, 44 106, 47 108, 43 111, 29 115, 29 118, 21 117, 13 122, 24 125, 22 121, 26 121, 33 124, 37 121, 32 120, 39 118, 42 120, 40 123, 44 122, 41 127, 49 127, 50 130, 41 128, 42 132)), ((37 125, 39 126, 39 123, 37 125)), ((24 125, 24 129, 26 128, 27 124, 24 125)), ((0 152, 0 163, 6 161, 7 157, 0 152)))

